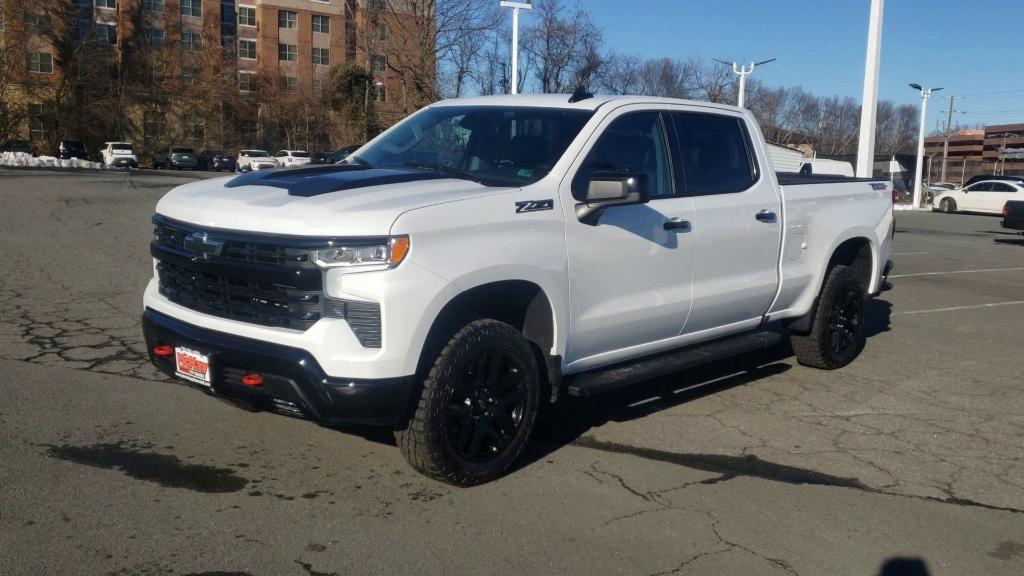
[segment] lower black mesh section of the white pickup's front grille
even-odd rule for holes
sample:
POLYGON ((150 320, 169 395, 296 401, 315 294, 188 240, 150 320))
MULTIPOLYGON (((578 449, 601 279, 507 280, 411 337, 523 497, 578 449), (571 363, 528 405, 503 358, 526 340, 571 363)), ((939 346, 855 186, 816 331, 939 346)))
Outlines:
POLYGON ((324 312, 319 291, 157 263, 160 293, 185 307, 242 322, 306 330, 324 312))

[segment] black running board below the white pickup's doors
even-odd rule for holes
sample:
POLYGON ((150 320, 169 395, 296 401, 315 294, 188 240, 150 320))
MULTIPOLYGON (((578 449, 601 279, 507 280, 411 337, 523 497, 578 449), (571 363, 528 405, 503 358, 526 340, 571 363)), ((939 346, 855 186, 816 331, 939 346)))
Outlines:
POLYGON ((611 392, 623 386, 694 368, 717 360, 759 349, 770 348, 782 339, 779 332, 763 330, 740 336, 730 336, 651 356, 628 364, 616 364, 593 372, 567 376, 569 396, 588 397, 611 392))

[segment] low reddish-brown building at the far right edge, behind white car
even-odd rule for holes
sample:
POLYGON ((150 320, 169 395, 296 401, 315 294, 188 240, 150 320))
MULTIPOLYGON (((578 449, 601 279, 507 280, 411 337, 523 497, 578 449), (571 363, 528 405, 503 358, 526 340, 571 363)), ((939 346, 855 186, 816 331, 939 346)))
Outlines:
MULTIPOLYGON (((942 174, 943 143, 942 136, 925 138, 925 157, 931 159, 929 173, 933 181, 942 174)), ((1004 154, 1015 149, 1024 149, 1024 124, 998 124, 953 134, 949 136, 946 180, 956 183, 977 174, 1024 175, 1024 158, 1004 154)))

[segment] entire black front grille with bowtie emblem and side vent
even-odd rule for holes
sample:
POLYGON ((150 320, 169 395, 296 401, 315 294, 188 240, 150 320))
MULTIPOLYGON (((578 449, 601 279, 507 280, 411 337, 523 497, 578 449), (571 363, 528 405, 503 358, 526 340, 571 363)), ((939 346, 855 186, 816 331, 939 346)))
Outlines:
POLYGON ((197 312, 292 330, 321 318, 344 319, 365 347, 381 346, 377 302, 328 298, 312 252, 337 239, 275 237, 204 229, 163 216, 154 218, 151 246, 160 293, 197 312), (209 241, 194 253, 186 239, 209 241))

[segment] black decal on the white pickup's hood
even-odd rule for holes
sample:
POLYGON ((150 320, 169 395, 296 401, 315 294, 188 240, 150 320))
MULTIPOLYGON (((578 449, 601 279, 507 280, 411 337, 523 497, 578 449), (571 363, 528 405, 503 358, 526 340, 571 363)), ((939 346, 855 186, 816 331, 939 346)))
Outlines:
POLYGON ((289 196, 311 198, 357 188, 436 180, 445 177, 447 176, 429 170, 388 170, 355 165, 331 165, 254 170, 236 176, 224 187, 268 186, 283 188, 288 191, 289 196))

